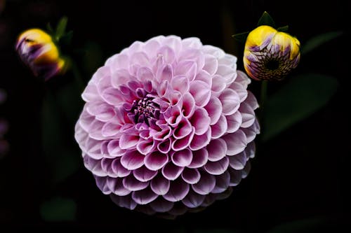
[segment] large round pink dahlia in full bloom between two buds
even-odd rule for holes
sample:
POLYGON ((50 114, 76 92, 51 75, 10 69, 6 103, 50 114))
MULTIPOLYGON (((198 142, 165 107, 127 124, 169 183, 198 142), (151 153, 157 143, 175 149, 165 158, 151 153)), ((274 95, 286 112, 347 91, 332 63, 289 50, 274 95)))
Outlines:
POLYGON ((199 38, 157 36, 107 59, 75 128, 85 167, 119 206, 178 216, 230 195, 259 133, 237 58, 199 38))

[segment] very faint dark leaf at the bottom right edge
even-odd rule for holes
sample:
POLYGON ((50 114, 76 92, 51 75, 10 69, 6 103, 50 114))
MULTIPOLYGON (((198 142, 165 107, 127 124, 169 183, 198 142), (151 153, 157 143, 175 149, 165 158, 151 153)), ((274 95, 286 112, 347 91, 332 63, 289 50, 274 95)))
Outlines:
MULTIPOLYGON (((272 230, 267 233, 310 233, 310 232, 321 232, 326 225, 327 219, 320 218, 311 218, 296 220, 290 223, 284 223, 274 227, 272 230)), ((323 231, 324 232, 324 231, 323 231)))

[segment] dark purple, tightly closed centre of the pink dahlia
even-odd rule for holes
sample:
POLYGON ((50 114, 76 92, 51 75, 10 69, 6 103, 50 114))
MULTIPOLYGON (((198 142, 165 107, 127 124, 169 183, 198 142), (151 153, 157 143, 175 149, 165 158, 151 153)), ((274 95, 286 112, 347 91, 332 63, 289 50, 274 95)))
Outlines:
POLYGON ((159 105, 152 101, 153 98, 145 97, 143 99, 134 100, 131 113, 134 115, 134 122, 145 122, 150 126, 151 119, 159 118, 159 105))

